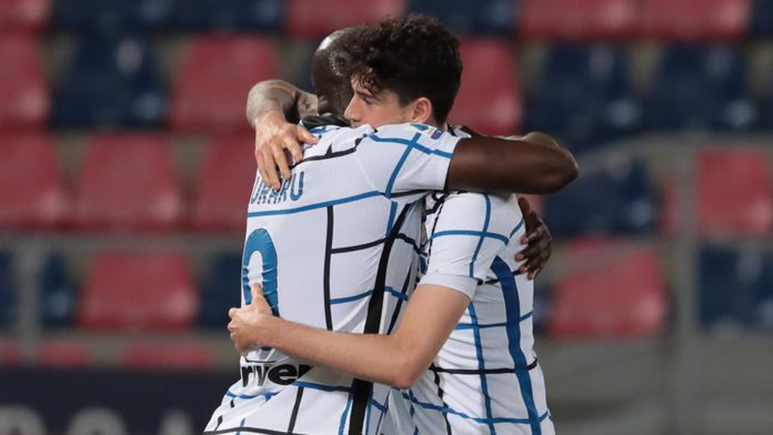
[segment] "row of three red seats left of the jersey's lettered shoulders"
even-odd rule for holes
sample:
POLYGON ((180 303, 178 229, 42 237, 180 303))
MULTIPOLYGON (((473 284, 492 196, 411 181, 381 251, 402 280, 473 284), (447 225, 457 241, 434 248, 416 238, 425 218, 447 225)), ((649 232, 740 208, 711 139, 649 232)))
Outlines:
POLYGON ((190 210, 163 135, 92 135, 72 192, 48 135, 14 133, 3 142, 0 230, 243 231, 255 176, 250 133, 211 140, 190 210))

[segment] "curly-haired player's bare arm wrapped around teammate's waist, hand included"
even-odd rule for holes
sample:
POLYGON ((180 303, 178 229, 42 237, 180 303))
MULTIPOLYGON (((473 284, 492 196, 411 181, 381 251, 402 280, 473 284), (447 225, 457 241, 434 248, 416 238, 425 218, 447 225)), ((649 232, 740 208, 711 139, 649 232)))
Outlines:
POLYGON ((265 300, 231 308, 228 325, 237 350, 270 346, 352 376, 408 388, 430 366, 464 313, 470 299, 440 285, 416 287, 391 335, 350 334, 304 326, 272 316, 265 300))

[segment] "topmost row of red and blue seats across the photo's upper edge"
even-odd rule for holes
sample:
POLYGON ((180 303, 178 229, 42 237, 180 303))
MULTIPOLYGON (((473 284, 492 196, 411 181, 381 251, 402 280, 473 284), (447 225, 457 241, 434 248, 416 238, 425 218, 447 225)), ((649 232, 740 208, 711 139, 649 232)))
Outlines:
POLYGON ((461 33, 524 39, 737 40, 771 36, 765 0, 2 0, 0 23, 37 31, 57 28, 126 31, 250 31, 321 38, 335 29, 411 12, 439 17, 461 33))

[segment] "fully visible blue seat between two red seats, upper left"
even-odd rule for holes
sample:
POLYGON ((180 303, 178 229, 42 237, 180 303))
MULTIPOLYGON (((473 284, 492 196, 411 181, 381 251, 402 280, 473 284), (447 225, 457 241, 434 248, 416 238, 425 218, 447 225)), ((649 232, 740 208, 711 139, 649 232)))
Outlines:
POLYGON ((168 97, 148 41, 81 38, 53 98, 54 127, 158 127, 168 97))

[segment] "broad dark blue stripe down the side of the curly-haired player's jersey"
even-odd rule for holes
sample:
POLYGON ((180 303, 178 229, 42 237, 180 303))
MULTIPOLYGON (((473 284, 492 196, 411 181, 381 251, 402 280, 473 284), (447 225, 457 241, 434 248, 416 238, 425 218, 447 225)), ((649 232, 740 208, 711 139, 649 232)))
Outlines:
POLYGON ((515 284, 515 277, 508 266, 508 263, 499 256, 495 257, 491 264, 491 270, 502 285, 504 307, 508 316, 510 356, 515 364, 515 376, 521 386, 521 396, 523 397, 523 403, 526 405, 526 412, 529 413, 529 424, 531 425, 532 434, 540 435, 542 434, 540 415, 536 413, 536 406, 534 405, 534 393, 532 391, 531 377, 529 377, 529 370, 525 368, 529 363, 526 363, 526 356, 521 350, 521 301, 518 294, 518 284, 515 284))

